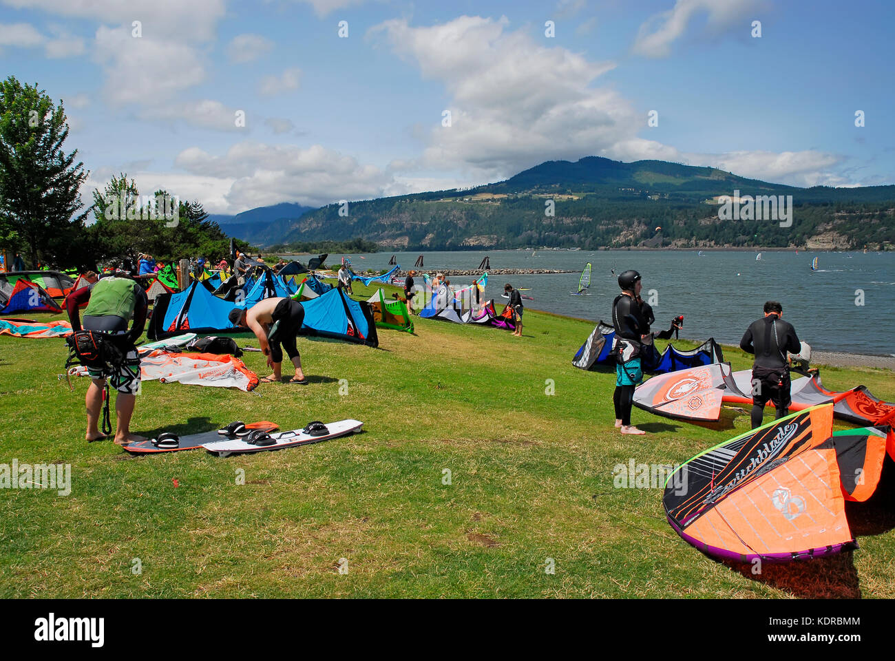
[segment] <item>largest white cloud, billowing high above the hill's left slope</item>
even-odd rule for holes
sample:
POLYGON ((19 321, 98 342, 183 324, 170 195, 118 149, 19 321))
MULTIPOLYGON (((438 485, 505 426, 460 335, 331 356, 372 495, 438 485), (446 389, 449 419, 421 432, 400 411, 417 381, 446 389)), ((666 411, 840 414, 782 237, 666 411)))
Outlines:
POLYGON ((461 16, 424 28, 386 21, 371 30, 452 97, 452 125, 433 117, 422 167, 464 167, 472 178, 493 180, 635 137, 643 122, 634 107, 614 90, 592 87, 615 64, 541 46, 507 24, 461 16))

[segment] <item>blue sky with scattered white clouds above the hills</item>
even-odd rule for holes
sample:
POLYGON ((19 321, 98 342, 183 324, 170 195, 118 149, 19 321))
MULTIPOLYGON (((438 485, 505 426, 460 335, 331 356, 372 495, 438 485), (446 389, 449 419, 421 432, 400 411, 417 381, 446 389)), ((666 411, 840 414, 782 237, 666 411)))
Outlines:
POLYGON ((861 1, 0 0, 0 61, 64 100, 85 193, 124 171, 236 213, 594 154, 895 184, 893 28, 861 1))

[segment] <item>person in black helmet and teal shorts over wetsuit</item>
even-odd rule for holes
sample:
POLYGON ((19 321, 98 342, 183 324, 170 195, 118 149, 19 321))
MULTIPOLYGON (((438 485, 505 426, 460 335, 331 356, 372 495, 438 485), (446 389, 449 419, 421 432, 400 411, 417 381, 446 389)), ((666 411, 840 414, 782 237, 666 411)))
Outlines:
MULTIPOLYGON (((643 288, 640 273, 626 270, 618 276, 618 287, 621 288, 621 294, 612 302, 612 325, 615 327, 616 337, 639 349, 644 336, 649 333, 649 323, 644 318, 640 303, 640 290, 643 288)), ((634 389, 644 380, 640 356, 629 357, 625 362, 622 362, 623 359, 624 354, 619 356, 616 365, 616 389, 612 393, 615 426, 622 434, 645 434, 642 429, 631 425, 634 389)))

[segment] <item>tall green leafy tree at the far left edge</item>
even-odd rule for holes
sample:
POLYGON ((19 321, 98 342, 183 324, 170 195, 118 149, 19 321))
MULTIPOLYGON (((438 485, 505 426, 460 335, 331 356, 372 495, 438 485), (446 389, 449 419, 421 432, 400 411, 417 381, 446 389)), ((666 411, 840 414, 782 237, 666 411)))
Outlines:
POLYGON ((0 83, 0 240, 24 245, 32 266, 65 263, 78 249, 87 211, 79 189, 89 173, 65 153, 67 117, 60 101, 14 76, 0 83), (77 214, 77 215, 75 215, 77 214))

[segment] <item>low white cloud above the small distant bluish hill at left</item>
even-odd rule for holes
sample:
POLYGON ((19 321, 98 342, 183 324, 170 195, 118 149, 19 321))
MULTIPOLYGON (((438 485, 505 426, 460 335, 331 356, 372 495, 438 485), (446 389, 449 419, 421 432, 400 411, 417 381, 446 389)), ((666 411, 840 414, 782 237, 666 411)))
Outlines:
POLYGON ((175 165, 191 176, 232 182, 225 195, 231 211, 276 202, 321 206, 363 200, 396 187, 390 173, 320 145, 301 149, 239 142, 220 156, 192 147, 177 156, 175 165))

